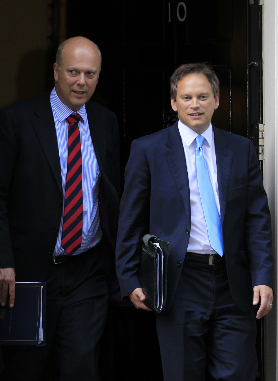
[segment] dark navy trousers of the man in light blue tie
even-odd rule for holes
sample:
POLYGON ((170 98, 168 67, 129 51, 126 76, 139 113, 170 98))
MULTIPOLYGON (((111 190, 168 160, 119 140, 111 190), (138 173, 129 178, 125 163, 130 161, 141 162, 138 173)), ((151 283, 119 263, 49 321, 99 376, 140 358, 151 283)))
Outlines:
POLYGON ((173 305, 156 317, 164 381, 254 381, 256 318, 241 312, 230 293, 225 261, 185 259, 173 305))

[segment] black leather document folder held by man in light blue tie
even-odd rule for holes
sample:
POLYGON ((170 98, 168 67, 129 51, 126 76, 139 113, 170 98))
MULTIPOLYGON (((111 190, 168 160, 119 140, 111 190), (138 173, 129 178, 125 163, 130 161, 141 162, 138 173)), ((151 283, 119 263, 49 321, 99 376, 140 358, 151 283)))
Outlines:
POLYGON ((144 235, 139 278, 146 296, 144 303, 157 314, 166 304, 168 254, 169 242, 144 235))

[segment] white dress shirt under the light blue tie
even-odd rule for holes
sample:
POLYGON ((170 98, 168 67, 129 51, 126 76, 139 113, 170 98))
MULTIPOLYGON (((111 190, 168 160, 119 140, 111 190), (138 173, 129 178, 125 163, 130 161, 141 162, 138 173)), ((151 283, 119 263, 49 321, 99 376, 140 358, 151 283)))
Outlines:
MULTIPOLYGON (((178 121, 178 128, 180 131, 181 139, 183 141, 190 189, 191 231, 187 251, 201 254, 216 254, 216 251, 210 247, 207 225, 197 183, 195 164, 195 138, 198 136, 198 134, 195 131, 191 130, 191 128, 184 125, 180 120, 178 121)), ((214 199, 220 215, 216 157, 211 123, 207 130, 205 130, 201 135, 206 139, 203 144, 203 155, 207 162, 210 181, 213 187, 214 199)))

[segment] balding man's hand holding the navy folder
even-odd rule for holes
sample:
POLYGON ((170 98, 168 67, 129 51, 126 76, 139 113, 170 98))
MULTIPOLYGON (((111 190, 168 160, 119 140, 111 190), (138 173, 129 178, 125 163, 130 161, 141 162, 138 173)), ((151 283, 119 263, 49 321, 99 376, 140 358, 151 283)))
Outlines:
POLYGON ((16 293, 16 273, 13 267, 0 269, 0 303, 6 305, 8 293, 10 294, 10 307, 14 306, 14 297, 16 293))

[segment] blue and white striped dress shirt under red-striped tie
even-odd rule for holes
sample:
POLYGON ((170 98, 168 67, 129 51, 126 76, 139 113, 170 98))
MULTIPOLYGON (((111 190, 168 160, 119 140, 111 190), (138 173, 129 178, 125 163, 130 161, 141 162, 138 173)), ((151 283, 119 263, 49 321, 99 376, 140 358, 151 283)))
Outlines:
MULTIPOLYGON (((58 97, 55 88, 50 94, 50 102, 55 122, 58 149, 60 155, 60 165, 62 174, 63 194, 65 197, 65 183, 67 176, 68 160, 68 122, 66 118, 71 114, 76 114, 67 107, 58 97)), ((83 231, 81 247, 73 253, 77 255, 83 253, 91 247, 97 245, 102 237, 102 231, 99 226, 98 210, 98 190, 100 182, 100 170, 95 156, 92 138, 89 129, 89 123, 86 114, 86 105, 79 109, 78 114, 81 119, 78 123, 81 139, 82 152, 82 189, 83 189, 83 231)), ((60 222, 59 234, 54 249, 54 256, 66 255, 67 253, 61 246, 62 226, 63 226, 64 208, 60 222)))

